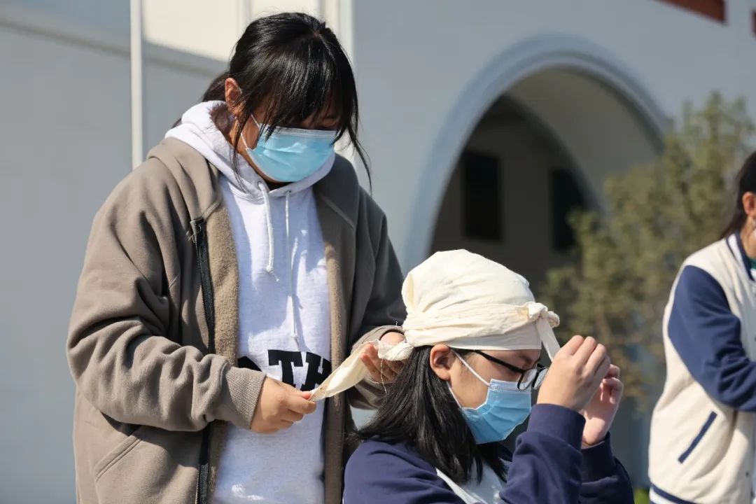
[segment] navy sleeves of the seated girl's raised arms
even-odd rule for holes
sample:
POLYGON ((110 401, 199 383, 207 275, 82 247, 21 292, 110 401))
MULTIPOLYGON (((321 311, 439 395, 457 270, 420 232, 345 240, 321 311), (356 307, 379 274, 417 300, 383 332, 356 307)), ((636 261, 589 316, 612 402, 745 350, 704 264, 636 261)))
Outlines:
POLYGON ((537 404, 519 435, 507 485, 507 504, 632 504, 633 487, 612 455, 609 437, 580 450, 585 419, 567 408, 537 404))

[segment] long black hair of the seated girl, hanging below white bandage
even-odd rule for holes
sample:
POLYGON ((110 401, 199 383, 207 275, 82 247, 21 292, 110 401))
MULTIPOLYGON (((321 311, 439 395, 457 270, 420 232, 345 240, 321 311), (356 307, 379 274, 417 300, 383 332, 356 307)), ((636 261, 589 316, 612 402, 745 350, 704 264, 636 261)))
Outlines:
MULTIPOLYGON (((459 484, 471 479, 473 466, 480 482, 483 462, 503 478, 498 444, 476 444, 446 382, 430 366, 431 348, 415 348, 387 389, 375 416, 355 438, 407 443, 459 484)), ((464 358, 469 352, 457 350, 457 354, 464 358)))

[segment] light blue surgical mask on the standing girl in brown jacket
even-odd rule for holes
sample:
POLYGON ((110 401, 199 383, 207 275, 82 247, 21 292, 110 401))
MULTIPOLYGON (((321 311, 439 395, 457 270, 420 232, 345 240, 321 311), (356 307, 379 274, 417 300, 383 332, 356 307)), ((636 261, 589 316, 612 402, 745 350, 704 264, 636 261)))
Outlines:
MULTIPOLYGON (((260 131, 269 128, 254 117, 252 120, 260 131)), ((267 178, 277 182, 299 182, 318 172, 333 157, 334 141, 336 131, 277 128, 269 138, 262 135, 254 149, 250 149, 246 141, 244 147, 267 178)))

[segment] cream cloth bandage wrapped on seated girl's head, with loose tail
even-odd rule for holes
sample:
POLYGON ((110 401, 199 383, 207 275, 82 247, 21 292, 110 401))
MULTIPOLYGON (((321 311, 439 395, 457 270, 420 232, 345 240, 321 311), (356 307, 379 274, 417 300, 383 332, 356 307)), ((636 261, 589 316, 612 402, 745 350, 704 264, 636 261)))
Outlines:
MULTIPOLYGON (((553 332, 559 317, 535 302, 524 277, 481 255, 437 252, 407 275, 401 294, 407 306, 404 342, 378 342, 378 355, 384 360, 404 360, 414 348, 440 344, 468 350, 543 346, 552 359, 559 351, 553 332)), ((336 368, 314 390, 312 400, 338 394, 364 379, 361 351, 336 368)))

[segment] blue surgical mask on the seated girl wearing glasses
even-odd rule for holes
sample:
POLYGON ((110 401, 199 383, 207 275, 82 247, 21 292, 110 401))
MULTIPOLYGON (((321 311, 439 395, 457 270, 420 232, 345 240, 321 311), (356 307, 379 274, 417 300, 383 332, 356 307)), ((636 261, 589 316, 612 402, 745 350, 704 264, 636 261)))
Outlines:
MULTIPOLYGON (((466 360, 459 355, 457 357, 477 379, 488 386, 485 402, 479 407, 466 408, 460 405, 460 410, 470 431, 472 431, 472 436, 477 444, 503 441, 512 434, 517 425, 525 422, 525 419, 530 415, 531 391, 529 389, 519 390, 517 382, 504 382, 503 380, 486 382, 466 360)), ((448 385, 448 387, 451 391, 451 385, 448 385)), ((451 391, 451 395, 459 405, 457 397, 454 396, 454 391, 451 391)))

